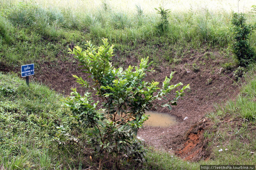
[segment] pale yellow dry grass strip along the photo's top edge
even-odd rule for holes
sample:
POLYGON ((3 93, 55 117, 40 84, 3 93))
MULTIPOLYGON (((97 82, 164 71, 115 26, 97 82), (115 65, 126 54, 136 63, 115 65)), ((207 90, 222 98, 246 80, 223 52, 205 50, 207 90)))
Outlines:
MULTIPOLYGON (((10 3, 31 2, 31 0, 0 0, 9 1, 10 3)), ((122 10, 131 12, 135 10, 135 5, 140 5, 144 12, 152 13, 155 7, 162 5, 166 9, 171 9, 174 12, 182 12, 186 10, 200 10, 202 8, 208 10, 225 10, 228 12, 248 12, 251 6, 255 5, 255 0, 177 0, 177 1, 163 1, 163 0, 34 0, 36 4, 40 4, 46 8, 62 8, 70 9, 73 12, 86 13, 88 11, 97 10, 105 4, 114 10, 122 10)))

